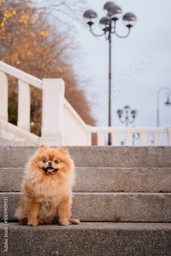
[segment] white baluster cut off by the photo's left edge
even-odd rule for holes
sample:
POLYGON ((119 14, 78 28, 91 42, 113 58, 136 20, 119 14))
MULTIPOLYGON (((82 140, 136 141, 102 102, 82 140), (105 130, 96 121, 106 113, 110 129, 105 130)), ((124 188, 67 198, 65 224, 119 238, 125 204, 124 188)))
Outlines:
POLYGON ((8 122, 8 75, 0 71, 0 119, 8 122))

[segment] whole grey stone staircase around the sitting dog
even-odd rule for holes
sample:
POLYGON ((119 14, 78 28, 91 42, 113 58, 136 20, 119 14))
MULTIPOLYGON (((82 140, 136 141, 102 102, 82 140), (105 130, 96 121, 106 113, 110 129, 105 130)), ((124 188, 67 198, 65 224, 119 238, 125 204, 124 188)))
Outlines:
POLYGON ((76 165, 72 213, 79 225, 19 225, 24 166, 37 146, 0 146, 0 234, 5 255, 171 255, 171 147, 68 146, 76 165), (124 216, 112 223, 113 216, 124 216))

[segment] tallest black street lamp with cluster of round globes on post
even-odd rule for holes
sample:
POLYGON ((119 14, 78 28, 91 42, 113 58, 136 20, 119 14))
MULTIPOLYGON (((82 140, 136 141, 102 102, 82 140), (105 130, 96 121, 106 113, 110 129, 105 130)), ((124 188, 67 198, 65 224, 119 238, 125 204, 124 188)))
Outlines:
MULTIPOLYGON (((93 10, 87 10, 84 12, 83 17, 88 19, 87 24, 90 26, 90 31, 95 36, 105 35, 106 40, 109 40, 109 126, 111 126, 111 35, 115 34, 120 38, 125 38, 130 34, 131 28, 136 22, 136 16, 132 12, 127 12, 123 15, 122 20, 124 25, 127 27, 128 32, 125 36, 120 36, 116 32, 116 23, 119 19, 118 15, 122 13, 120 6, 116 5, 114 2, 107 2, 104 7, 104 10, 107 11, 105 17, 102 17, 99 21, 99 24, 103 30, 103 33, 100 35, 95 34, 92 31, 92 26, 94 25, 93 19, 97 18, 97 13, 93 10)), ((108 145, 111 145, 111 134, 109 133, 108 145)))

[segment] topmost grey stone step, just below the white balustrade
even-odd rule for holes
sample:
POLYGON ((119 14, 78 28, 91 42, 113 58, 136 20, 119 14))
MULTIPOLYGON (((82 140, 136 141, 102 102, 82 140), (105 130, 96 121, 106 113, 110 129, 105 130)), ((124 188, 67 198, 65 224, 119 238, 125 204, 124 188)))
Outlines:
MULTIPOLYGON (((1 168, 23 168, 38 146, 0 146, 1 168)), ((171 146, 67 146, 77 167, 170 167, 171 146)))

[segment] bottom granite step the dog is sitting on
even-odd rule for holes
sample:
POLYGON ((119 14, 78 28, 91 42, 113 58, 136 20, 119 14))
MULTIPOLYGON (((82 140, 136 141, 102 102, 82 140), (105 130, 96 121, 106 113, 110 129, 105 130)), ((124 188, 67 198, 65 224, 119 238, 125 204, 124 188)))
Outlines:
POLYGON ((22 226, 0 223, 1 255, 166 256, 171 255, 171 223, 80 223, 22 226), (4 229, 8 227, 8 229, 4 229))

